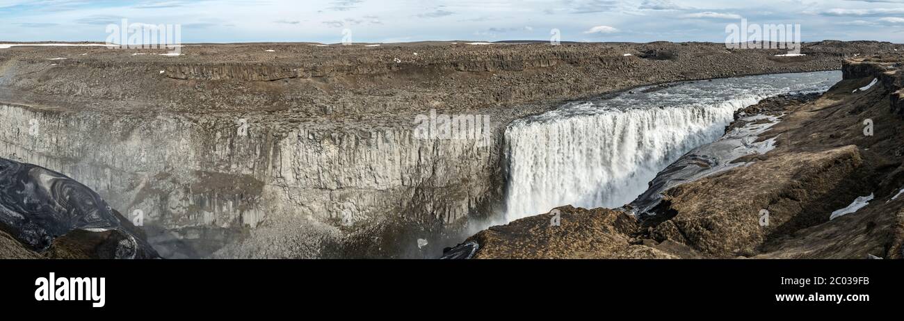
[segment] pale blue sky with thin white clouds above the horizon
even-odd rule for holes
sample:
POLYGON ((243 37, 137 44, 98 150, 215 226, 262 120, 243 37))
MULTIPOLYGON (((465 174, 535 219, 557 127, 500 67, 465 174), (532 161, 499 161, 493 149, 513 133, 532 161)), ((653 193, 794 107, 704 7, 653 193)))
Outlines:
POLYGON ((904 42, 904 0, 0 0, 0 41, 97 41, 107 25, 179 24, 182 42, 724 42, 728 24, 802 39, 904 42))

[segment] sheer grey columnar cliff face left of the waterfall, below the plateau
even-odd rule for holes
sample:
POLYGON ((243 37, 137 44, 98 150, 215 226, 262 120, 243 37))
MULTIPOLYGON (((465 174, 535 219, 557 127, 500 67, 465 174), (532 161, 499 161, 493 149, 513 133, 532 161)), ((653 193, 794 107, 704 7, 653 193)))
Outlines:
MULTIPOLYGON (((0 153, 57 168, 130 218, 142 216, 147 229, 161 231, 150 239, 170 257, 210 255, 268 215, 304 218, 325 235, 397 212, 419 224, 453 224, 492 194, 487 180, 465 178, 494 175, 498 159, 491 136, 429 139, 413 130, 330 132, 255 118, 118 118, 16 105, 0 106, 0 114, 0 153)), ((304 250, 300 257, 322 254, 304 250)))

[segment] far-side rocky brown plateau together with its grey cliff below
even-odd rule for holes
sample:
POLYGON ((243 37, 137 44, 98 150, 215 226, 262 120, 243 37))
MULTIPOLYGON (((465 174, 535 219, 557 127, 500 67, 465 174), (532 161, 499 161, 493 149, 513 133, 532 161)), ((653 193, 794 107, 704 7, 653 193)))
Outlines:
POLYGON ((143 216, 165 258, 436 257, 498 212, 501 136, 514 119, 639 85, 837 70, 845 57, 897 49, 254 43, 166 56, 17 46, 0 49, 0 156, 143 216), (431 110, 490 121, 481 135, 424 139, 417 119, 431 110))

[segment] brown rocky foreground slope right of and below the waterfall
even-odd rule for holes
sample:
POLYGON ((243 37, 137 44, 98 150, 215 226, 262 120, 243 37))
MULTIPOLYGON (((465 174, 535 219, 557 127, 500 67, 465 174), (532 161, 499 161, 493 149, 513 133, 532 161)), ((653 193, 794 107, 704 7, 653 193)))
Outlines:
POLYGON ((739 110, 726 136, 767 121, 751 115, 774 117, 758 141, 774 140, 775 148, 724 159, 737 166, 709 173, 724 162, 689 161, 707 151, 698 148, 675 163, 681 168, 660 174, 683 182, 651 184, 661 194, 654 205, 651 194, 632 203, 649 211, 566 206, 560 226, 541 214, 481 231, 459 248, 477 248, 479 259, 901 259, 901 61, 899 54, 852 58, 843 81, 823 95, 739 110))

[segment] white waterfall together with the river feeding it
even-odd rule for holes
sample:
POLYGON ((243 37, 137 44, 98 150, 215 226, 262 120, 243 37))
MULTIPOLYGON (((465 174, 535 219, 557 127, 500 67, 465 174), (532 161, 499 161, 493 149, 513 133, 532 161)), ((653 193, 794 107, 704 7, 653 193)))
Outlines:
POLYGON ((580 101, 505 130, 511 222, 561 205, 616 208, 692 148, 722 136, 734 111, 786 93, 828 90, 840 71, 692 81, 580 101))

